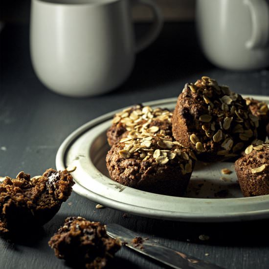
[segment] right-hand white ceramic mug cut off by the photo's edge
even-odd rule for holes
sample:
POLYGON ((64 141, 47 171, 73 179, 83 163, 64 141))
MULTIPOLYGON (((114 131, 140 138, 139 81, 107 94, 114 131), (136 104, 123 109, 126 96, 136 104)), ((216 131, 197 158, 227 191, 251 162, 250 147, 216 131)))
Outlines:
POLYGON ((216 66, 269 66, 269 0, 197 0, 196 25, 202 50, 216 66))

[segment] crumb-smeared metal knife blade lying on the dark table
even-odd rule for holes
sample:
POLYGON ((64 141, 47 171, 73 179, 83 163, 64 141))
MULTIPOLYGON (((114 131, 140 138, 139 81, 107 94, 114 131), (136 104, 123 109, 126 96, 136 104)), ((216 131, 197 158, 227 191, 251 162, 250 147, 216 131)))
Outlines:
POLYGON ((126 247, 130 247, 165 265, 176 269, 222 269, 221 267, 194 258, 185 253, 165 247, 154 240, 143 239, 135 233, 118 224, 107 224, 107 233, 112 238, 119 238, 126 247))

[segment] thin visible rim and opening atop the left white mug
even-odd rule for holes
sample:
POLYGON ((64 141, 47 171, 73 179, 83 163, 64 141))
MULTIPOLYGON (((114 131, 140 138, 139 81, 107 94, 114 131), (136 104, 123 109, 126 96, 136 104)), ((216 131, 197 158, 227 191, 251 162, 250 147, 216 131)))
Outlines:
POLYGON ((110 4, 120 0, 32 0, 33 2, 39 2, 47 5, 54 6, 100 6, 104 4, 110 4))

